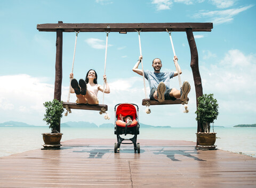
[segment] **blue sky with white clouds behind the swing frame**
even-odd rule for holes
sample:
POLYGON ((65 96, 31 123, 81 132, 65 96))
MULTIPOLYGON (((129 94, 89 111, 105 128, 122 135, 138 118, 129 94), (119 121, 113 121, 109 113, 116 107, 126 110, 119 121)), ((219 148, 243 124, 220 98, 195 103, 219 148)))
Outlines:
MULTIPOLYGON (((253 0, 87 0, 0 1, 0 123, 24 122, 46 125, 43 103, 53 99, 56 33, 39 32, 43 23, 167 23, 212 22, 211 32, 194 32, 203 93, 213 93, 219 103, 214 125, 230 127, 256 123, 256 2, 253 0)), ((162 59, 161 71, 175 71, 169 33, 141 32, 143 68, 153 71, 154 58, 162 59)), ((145 113, 142 76, 132 68, 140 55, 137 32, 109 33, 106 75, 110 93, 105 94, 109 120, 98 111, 72 110, 62 123, 86 121, 97 125, 114 123, 116 104, 139 106, 139 122, 154 126, 196 127, 196 95, 190 68, 186 32, 172 32, 175 53, 189 81, 189 113, 183 105, 150 106, 145 113)), ((85 78, 95 69, 103 84, 105 32, 81 32, 77 37, 74 77, 85 78)), ((61 100, 67 101, 75 32, 63 33, 63 79, 61 100)), ((141 69, 141 65, 139 66, 141 69)), ((146 80, 147 95, 149 86, 146 80)), ((178 76, 171 88, 179 88, 178 76)), ((103 96, 99 92, 100 104, 103 96)), ((70 101, 76 97, 71 94, 70 101)))

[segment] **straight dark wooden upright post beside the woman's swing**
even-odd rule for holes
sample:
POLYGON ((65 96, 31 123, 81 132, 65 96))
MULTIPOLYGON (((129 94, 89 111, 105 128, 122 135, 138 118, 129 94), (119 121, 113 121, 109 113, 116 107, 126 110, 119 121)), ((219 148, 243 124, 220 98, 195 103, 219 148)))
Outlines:
MULTIPOLYGON (((59 23, 63 23, 59 21, 59 23)), ((62 29, 57 29, 56 39, 56 62, 55 62, 55 86, 54 86, 54 99, 61 101, 61 84, 62 84, 62 29)), ((60 124, 58 130, 60 132, 60 124)))

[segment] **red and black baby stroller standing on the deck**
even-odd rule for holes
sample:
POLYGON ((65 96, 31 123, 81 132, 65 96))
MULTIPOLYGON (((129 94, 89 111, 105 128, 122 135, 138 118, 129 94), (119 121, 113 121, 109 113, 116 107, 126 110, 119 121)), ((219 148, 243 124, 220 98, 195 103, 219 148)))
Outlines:
POLYGON ((115 153, 120 150, 120 145, 121 143, 123 144, 132 144, 134 146, 134 151, 137 151, 140 153, 140 143, 137 143, 137 135, 139 134, 139 117, 137 114, 137 110, 135 106, 138 109, 139 113, 139 107, 138 105, 135 104, 130 104, 130 103, 122 103, 122 104, 117 104, 115 106, 115 134, 117 135, 117 143, 115 143, 115 153), (117 108, 116 108, 117 107, 117 108), (127 116, 131 115, 132 116, 132 124, 126 125, 125 122, 121 120, 121 116, 127 116), (126 135, 126 134, 132 134, 134 135, 133 138, 130 139, 124 139, 120 135, 126 135), (130 140, 132 142, 123 142, 126 140, 130 140))

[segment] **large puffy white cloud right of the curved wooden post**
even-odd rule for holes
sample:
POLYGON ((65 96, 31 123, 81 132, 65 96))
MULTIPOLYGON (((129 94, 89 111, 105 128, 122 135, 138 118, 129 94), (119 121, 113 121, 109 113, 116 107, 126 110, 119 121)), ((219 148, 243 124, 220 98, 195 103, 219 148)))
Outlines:
POLYGON ((200 72, 204 92, 218 97, 221 110, 233 114, 256 112, 256 54, 232 49, 220 62, 200 67, 200 72))

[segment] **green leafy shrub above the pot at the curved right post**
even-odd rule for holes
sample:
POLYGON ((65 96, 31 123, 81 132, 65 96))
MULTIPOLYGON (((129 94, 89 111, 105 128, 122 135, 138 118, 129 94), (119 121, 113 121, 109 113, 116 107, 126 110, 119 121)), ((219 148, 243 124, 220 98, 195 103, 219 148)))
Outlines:
POLYGON ((203 124, 204 132, 210 132, 210 123, 213 123, 219 115, 218 101, 213 98, 213 94, 204 94, 202 97, 198 97, 197 100, 196 120, 203 124))

